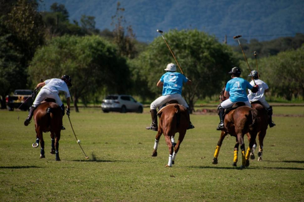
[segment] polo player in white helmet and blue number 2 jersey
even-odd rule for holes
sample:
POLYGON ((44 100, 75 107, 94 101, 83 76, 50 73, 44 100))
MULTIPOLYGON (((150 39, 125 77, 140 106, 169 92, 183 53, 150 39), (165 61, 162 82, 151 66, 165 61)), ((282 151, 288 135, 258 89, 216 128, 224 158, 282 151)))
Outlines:
MULTIPOLYGON (((181 96, 181 90, 183 87, 183 83, 191 84, 192 81, 189 80, 185 75, 176 72, 176 66, 173 63, 169 63, 165 68, 165 71, 167 72, 161 76, 160 80, 156 84, 157 87, 163 87, 163 92, 162 96, 154 100, 150 105, 152 124, 150 127, 146 127, 146 129, 148 130, 157 131, 158 126, 156 109, 159 106, 166 104, 170 100, 176 100, 178 104, 183 105, 189 111, 188 104, 181 96)), ((194 128, 194 126, 190 122, 188 129, 192 128, 194 128)))

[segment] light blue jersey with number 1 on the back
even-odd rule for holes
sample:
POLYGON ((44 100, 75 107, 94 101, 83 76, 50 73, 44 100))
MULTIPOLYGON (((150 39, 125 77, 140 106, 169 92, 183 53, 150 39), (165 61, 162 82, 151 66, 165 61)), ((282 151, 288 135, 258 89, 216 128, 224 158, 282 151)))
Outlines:
POLYGON ((229 92, 231 102, 248 101, 246 88, 252 89, 253 86, 244 78, 233 78, 226 84, 226 91, 229 92))

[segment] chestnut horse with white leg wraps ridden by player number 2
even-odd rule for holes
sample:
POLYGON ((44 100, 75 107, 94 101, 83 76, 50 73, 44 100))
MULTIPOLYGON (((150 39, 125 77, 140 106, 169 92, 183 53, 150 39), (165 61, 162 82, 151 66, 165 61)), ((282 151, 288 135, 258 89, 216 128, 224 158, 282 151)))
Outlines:
POLYGON ((180 104, 168 104, 160 109, 157 115, 160 117, 160 124, 158 125, 158 132, 155 137, 152 156, 157 156, 157 146, 160 136, 161 134, 164 134, 165 141, 169 147, 169 161, 166 167, 172 167, 176 154, 180 149, 181 142, 183 141, 187 128, 190 124, 188 109, 180 104), (177 132, 179 133, 178 141, 174 146, 174 135, 177 132))

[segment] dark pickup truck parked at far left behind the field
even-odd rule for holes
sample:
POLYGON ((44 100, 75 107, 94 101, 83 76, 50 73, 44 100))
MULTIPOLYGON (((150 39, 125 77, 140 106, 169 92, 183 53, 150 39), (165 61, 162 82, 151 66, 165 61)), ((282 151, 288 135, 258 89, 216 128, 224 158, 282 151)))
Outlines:
POLYGON ((13 111, 14 108, 19 108, 21 104, 22 106, 19 109, 24 111, 28 110, 33 104, 32 94, 32 90, 15 90, 13 95, 6 96, 6 106, 8 110, 13 111))

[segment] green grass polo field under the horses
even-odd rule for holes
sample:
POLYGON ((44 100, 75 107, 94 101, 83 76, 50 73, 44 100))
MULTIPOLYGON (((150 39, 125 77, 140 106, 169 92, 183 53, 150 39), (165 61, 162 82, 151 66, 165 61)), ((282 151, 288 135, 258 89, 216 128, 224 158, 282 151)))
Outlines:
POLYGON ((243 170, 232 167, 231 136, 218 164, 211 163, 220 135, 216 114, 191 115, 195 129, 187 131, 175 164, 166 168, 164 137, 158 156, 151 156, 156 132, 144 129, 151 122, 148 110, 72 111, 73 128, 90 159, 64 116, 59 162, 49 153, 49 133, 46 158, 39 159, 40 147, 31 146, 34 124, 23 125, 27 112, 1 110, 0 201, 304 201, 304 107, 274 107, 276 126, 267 130, 263 161, 251 160, 243 170))

